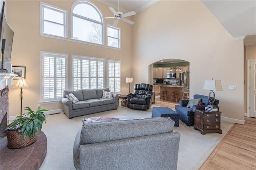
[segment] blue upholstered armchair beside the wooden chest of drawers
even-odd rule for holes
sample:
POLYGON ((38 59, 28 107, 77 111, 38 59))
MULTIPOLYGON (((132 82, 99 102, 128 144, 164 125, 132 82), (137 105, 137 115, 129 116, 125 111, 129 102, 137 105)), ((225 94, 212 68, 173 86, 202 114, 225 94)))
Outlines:
MULTIPOLYGON (((187 126, 194 126, 194 114, 195 109, 204 109, 207 105, 210 105, 209 97, 204 95, 194 95, 194 99, 201 99, 203 105, 193 105, 192 108, 187 107, 189 100, 181 100, 180 106, 175 105, 175 111, 180 114, 180 120, 187 126)), ((219 100, 215 99, 213 105, 217 108, 219 100)))

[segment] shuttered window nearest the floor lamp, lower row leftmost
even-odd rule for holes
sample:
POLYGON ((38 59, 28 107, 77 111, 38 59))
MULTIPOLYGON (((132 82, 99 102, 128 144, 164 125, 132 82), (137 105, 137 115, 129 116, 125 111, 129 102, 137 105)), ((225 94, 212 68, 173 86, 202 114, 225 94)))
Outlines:
POLYGON ((41 101, 57 101, 62 99, 63 91, 68 87, 67 58, 67 54, 41 51, 41 101))

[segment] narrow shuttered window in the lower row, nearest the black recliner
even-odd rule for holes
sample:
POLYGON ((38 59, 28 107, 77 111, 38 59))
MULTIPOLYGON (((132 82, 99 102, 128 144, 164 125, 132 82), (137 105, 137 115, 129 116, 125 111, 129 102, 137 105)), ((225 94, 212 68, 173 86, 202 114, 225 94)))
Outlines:
POLYGON ((108 68, 108 87, 114 93, 120 93, 120 75, 121 75, 121 61, 107 59, 108 68))

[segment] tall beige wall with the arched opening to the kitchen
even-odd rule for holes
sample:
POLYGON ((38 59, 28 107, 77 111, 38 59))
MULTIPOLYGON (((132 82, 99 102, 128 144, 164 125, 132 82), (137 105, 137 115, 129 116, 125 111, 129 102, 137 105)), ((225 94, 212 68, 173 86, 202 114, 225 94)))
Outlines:
POLYGON ((202 90, 204 80, 219 79, 223 91, 215 94, 222 116, 243 123, 243 40, 234 40, 201 1, 160 0, 133 20, 134 83, 148 83, 148 66, 156 61, 189 61, 190 98, 209 94, 202 90), (229 85, 236 85, 236 90, 229 90, 229 85))

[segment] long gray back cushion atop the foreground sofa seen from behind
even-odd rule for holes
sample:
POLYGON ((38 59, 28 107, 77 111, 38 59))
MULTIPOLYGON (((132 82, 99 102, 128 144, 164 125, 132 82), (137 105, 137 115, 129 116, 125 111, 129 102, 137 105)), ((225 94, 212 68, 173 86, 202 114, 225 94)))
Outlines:
POLYGON ((82 125, 80 144, 90 144, 173 131, 170 118, 146 118, 82 125))

